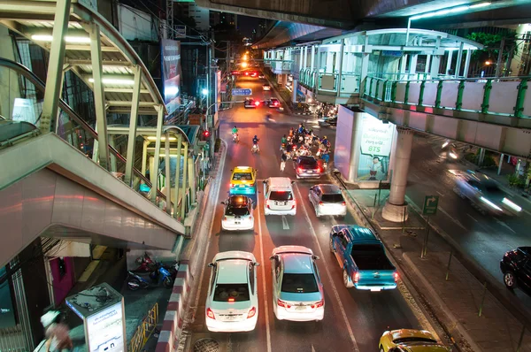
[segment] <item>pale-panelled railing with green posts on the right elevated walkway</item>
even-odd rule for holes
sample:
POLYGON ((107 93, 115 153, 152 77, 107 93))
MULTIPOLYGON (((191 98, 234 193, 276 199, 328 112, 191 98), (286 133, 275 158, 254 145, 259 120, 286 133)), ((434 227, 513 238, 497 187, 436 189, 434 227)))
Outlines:
POLYGON ((381 102, 530 118, 529 80, 531 77, 388 80, 369 76, 363 84, 364 97, 381 102))

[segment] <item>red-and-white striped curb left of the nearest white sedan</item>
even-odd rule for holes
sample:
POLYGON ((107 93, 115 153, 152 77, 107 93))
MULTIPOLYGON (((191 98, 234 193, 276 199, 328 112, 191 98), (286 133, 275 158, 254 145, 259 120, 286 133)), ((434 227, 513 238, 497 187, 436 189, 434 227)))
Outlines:
POLYGON ((173 283, 173 291, 164 315, 164 322, 158 335, 155 352, 172 352, 178 345, 184 314, 184 305, 190 291, 189 261, 182 260, 173 283))

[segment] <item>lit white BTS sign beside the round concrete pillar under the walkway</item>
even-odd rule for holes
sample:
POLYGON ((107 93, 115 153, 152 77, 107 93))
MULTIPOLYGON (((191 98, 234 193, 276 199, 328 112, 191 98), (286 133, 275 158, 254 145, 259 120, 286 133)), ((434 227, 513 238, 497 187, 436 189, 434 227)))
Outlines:
POLYGON ((358 180, 387 180, 395 126, 364 114, 362 118, 358 180))

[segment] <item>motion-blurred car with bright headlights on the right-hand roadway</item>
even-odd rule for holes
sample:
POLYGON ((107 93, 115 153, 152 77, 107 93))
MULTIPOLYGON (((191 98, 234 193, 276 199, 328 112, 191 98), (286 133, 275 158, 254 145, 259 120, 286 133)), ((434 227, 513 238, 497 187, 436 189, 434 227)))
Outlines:
POLYGON ((454 192, 461 198, 470 200, 473 207, 481 213, 493 216, 521 213, 521 206, 486 174, 472 170, 466 172, 450 170, 450 172, 456 176, 454 192))

